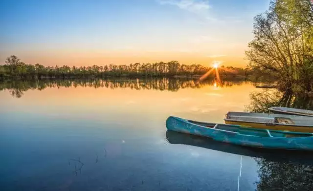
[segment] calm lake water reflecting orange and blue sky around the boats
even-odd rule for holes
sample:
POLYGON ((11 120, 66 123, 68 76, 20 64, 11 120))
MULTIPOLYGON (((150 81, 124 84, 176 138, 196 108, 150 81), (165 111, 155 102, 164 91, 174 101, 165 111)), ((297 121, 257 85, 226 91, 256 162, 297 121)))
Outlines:
POLYGON ((170 115, 224 123, 228 111, 243 111, 249 94, 262 91, 251 83, 162 79, 0 87, 2 191, 313 188, 308 153, 264 152, 166 130, 170 115))

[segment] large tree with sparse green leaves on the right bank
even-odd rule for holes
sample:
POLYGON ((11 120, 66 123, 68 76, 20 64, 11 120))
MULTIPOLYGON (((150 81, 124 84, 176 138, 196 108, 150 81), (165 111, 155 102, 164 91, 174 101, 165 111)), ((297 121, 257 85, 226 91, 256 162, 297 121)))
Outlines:
POLYGON ((312 94, 312 1, 273 0, 254 20, 254 39, 246 51, 249 67, 274 73, 280 90, 312 94))

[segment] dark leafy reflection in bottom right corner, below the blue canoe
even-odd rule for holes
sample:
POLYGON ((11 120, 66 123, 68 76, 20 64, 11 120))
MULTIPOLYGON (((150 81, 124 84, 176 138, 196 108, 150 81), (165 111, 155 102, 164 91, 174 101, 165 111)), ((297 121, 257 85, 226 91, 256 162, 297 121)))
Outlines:
POLYGON ((312 191, 313 165, 255 159, 260 169, 258 191, 312 191))

